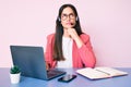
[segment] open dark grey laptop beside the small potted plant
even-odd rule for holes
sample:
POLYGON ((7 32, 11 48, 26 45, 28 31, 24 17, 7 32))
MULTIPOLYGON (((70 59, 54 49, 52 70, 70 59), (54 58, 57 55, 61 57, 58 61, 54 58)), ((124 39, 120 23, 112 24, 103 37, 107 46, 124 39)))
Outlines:
POLYGON ((43 47, 10 46, 13 65, 17 65, 22 76, 39 79, 51 79, 66 74, 64 71, 53 69, 46 70, 43 47))

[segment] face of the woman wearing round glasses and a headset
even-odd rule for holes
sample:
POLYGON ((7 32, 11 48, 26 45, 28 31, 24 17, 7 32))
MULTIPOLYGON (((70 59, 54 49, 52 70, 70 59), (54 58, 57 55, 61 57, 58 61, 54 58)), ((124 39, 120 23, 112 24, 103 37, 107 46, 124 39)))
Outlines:
POLYGON ((63 28, 72 28, 75 26, 75 14, 73 12, 73 10, 71 8, 66 8, 63 9, 62 13, 61 13, 61 24, 63 26, 63 28))

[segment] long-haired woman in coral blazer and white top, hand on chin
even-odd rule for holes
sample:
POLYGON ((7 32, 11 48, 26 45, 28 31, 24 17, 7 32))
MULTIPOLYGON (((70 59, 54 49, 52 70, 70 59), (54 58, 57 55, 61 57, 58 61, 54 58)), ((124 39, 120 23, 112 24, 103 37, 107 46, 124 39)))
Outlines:
POLYGON ((56 33, 47 36, 47 67, 94 67, 96 59, 90 36, 82 33, 76 9, 63 4, 56 21, 56 33))

